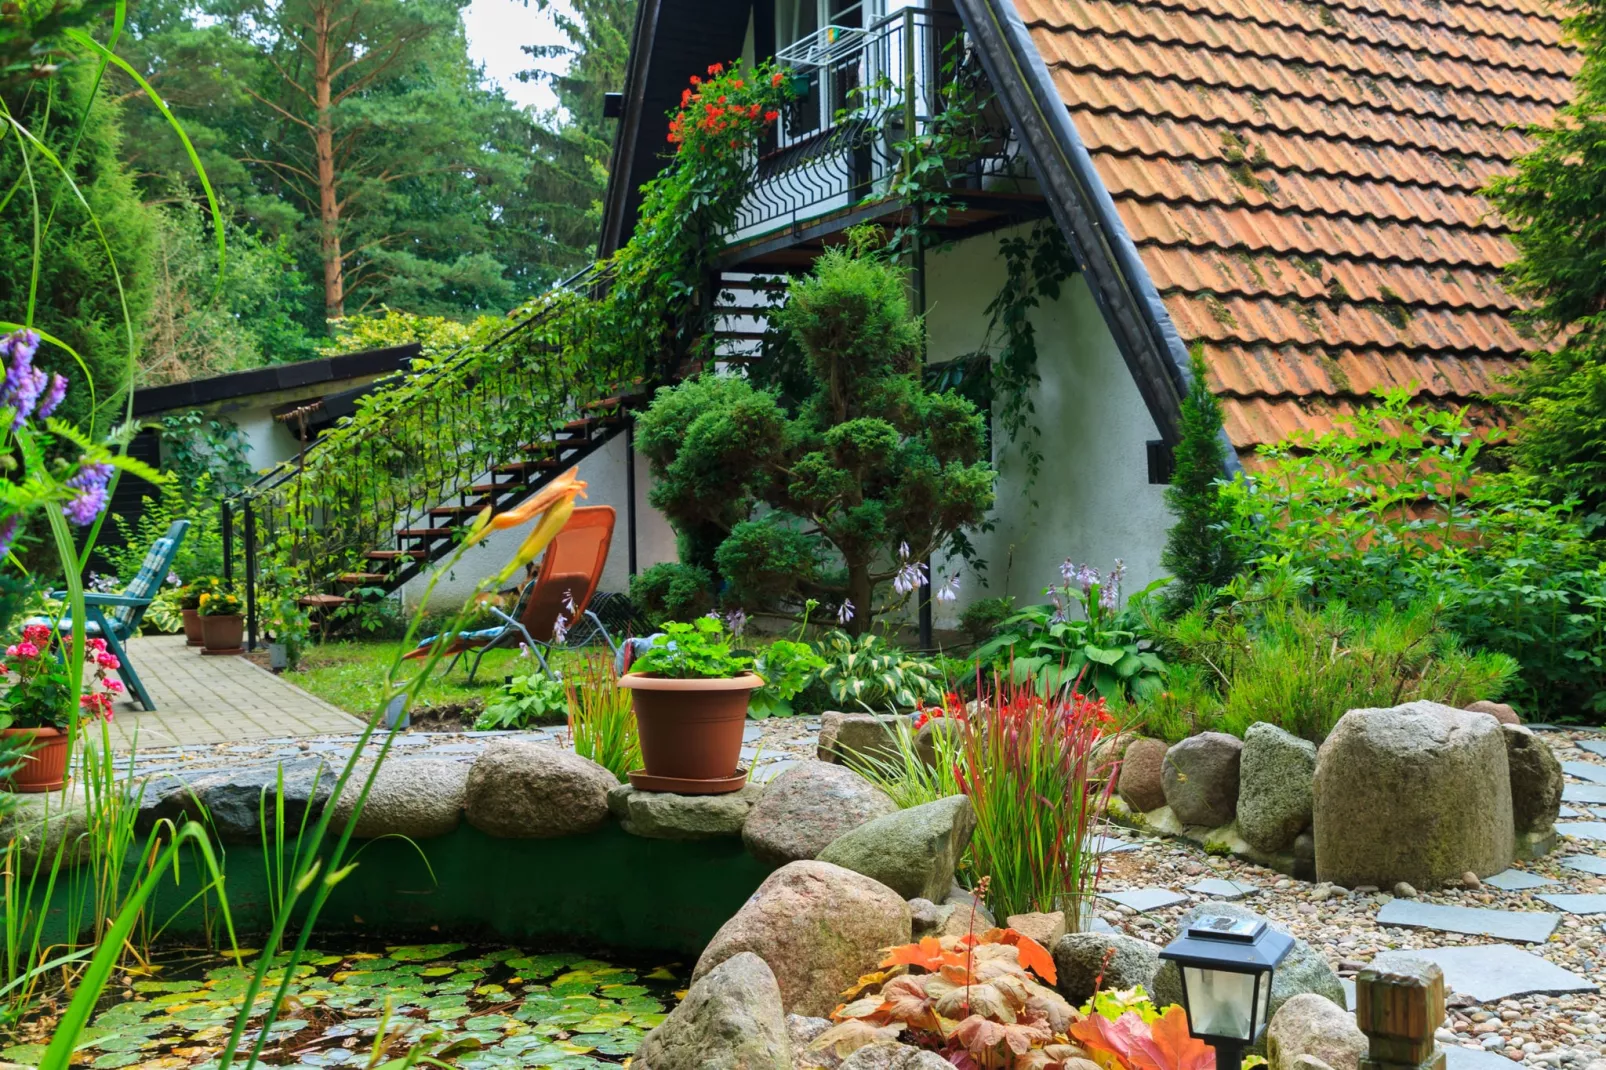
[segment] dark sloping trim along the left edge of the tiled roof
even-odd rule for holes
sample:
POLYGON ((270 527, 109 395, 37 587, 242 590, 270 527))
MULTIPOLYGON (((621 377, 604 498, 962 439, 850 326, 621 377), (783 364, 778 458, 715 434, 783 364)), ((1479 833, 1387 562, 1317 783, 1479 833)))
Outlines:
MULTIPOLYGON (((981 66, 1026 149, 1139 394, 1176 445, 1188 352, 1012 0, 957 0, 981 66)), ((1229 451, 1237 464, 1237 455, 1229 451)))

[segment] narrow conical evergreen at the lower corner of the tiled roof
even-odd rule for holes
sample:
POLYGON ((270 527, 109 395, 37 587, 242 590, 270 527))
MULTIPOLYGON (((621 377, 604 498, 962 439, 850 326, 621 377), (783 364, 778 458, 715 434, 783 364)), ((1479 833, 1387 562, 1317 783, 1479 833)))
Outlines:
POLYGON ((1177 521, 1166 537, 1160 562, 1171 572, 1168 604, 1172 612, 1192 607, 1232 582, 1240 566, 1238 548, 1227 530, 1230 506, 1216 480, 1222 476, 1225 443, 1221 437, 1221 402, 1204 381, 1204 355, 1193 347, 1188 355, 1192 379, 1182 398, 1182 440, 1176 448, 1176 471, 1166 488, 1166 506, 1177 521))

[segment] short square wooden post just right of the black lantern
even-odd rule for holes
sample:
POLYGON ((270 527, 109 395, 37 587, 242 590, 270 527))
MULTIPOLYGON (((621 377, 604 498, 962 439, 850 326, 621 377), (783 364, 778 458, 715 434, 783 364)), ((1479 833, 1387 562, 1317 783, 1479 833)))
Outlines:
POLYGON ((1444 1070, 1433 1035, 1444 1022, 1444 970, 1405 959, 1355 977, 1355 1022, 1368 1051, 1360 1070, 1444 1070))

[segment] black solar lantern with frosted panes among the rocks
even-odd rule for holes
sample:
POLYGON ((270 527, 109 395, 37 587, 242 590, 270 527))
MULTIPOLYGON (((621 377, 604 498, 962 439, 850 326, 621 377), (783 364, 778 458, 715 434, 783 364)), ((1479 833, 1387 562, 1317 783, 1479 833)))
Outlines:
POLYGON ((1293 946, 1259 917, 1206 914, 1160 953, 1182 974, 1188 1033, 1216 1049, 1216 1070, 1240 1070, 1266 1030, 1272 972, 1293 946))

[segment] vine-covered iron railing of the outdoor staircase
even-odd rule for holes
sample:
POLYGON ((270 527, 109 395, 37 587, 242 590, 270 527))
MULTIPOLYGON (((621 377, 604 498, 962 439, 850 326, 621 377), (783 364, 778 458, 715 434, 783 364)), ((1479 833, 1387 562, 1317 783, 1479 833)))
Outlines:
POLYGON ((599 398, 641 374, 589 336, 594 318, 567 315, 605 288, 583 272, 490 341, 395 376, 226 501, 225 580, 243 567, 252 641, 267 591, 395 590, 480 508, 514 504, 601 445, 593 427, 617 421, 599 398))

